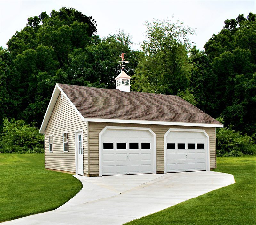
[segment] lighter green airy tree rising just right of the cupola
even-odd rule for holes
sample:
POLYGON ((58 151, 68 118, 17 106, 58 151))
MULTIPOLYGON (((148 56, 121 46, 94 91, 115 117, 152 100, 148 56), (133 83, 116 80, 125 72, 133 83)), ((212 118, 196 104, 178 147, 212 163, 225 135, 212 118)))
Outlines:
POLYGON ((161 94, 188 93, 192 65, 188 61, 194 31, 177 21, 147 22, 143 52, 132 77, 132 89, 161 94))

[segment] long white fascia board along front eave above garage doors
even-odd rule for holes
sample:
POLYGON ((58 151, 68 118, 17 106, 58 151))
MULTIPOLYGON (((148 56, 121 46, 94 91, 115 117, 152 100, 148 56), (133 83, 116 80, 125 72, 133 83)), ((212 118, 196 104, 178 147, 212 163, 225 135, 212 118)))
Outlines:
POLYGON ((223 127, 223 124, 182 123, 182 122, 150 121, 150 120, 120 120, 120 119, 84 118, 84 121, 85 122, 105 122, 105 123, 156 124, 156 125, 191 126, 191 127, 223 127))

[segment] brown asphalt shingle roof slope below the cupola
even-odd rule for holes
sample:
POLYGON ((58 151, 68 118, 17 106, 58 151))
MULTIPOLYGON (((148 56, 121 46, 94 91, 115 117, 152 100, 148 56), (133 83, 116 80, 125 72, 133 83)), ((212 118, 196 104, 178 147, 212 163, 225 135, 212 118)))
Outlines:
POLYGON ((221 124, 174 95, 58 85, 85 118, 221 124))

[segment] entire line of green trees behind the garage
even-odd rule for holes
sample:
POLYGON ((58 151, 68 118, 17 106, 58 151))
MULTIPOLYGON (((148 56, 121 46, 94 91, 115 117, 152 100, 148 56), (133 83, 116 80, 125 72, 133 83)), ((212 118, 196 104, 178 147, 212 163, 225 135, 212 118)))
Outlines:
POLYGON ((56 83, 114 89, 118 56, 126 52, 133 91, 179 95, 224 123, 220 148, 235 132, 237 151, 246 154, 241 140, 253 145, 256 139, 255 17, 227 19, 204 51, 193 46, 194 30, 180 21, 146 22, 142 50, 133 50, 130 35, 100 38, 96 21, 73 8, 29 17, 8 47, 0 47, 0 132, 15 124, 39 128, 56 83))

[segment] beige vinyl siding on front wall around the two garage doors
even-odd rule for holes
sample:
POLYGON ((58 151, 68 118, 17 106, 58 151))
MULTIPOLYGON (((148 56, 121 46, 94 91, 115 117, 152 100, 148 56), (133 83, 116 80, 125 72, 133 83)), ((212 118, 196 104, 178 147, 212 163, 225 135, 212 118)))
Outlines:
POLYGON ((89 122, 89 174, 99 174, 99 133, 105 126, 123 127, 147 127, 156 134, 156 171, 164 171, 164 134, 169 128, 203 129, 210 137, 210 169, 216 168, 216 138, 215 128, 212 127, 188 127, 168 126, 152 124, 128 124, 128 123, 101 123, 89 122))

